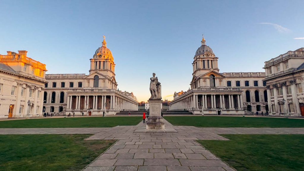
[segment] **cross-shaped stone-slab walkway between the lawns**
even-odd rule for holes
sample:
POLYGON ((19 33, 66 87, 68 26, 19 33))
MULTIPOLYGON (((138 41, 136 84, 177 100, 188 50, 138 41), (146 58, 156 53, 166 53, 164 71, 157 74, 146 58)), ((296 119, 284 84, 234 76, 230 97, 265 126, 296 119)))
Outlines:
POLYGON ((112 128, 0 128, 0 134, 94 134, 86 140, 118 140, 84 171, 232 171, 195 140, 228 140, 219 134, 304 134, 304 128, 198 128, 146 125, 112 128))

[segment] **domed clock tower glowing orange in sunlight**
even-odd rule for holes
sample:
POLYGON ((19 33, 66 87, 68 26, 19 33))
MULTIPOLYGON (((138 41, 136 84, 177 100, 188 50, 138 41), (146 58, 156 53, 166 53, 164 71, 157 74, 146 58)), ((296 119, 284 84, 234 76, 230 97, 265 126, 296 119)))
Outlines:
POLYGON ((112 52, 107 48, 107 42, 105 41, 105 36, 103 36, 102 47, 99 47, 93 58, 90 59, 91 68, 90 74, 92 72, 99 72, 103 75, 108 75, 112 77, 115 75, 115 63, 112 52))

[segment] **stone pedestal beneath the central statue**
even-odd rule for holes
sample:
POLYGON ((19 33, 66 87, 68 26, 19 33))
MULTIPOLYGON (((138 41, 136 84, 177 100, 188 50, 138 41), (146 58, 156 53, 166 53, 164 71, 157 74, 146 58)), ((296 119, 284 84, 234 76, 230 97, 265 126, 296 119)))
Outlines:
POLYGON ((163 117, 161 117, 161 104, 163 101, 161 99, 150 99, 149 102, 149 117, 146 123, 146 129, 165 129, 165 123, 163 117))

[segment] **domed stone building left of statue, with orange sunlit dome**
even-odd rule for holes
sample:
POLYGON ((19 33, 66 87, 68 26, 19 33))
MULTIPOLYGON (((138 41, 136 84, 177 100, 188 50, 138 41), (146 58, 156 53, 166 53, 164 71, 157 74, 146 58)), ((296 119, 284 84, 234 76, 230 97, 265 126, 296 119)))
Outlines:
POLYGON ((89 74, 47 74, 44 91, 46 112, 102 115, 103 111, 114 115, 120 110, 138 110, 133 92, 117 90, 115 62, 105 39, 93 58, 89 74))

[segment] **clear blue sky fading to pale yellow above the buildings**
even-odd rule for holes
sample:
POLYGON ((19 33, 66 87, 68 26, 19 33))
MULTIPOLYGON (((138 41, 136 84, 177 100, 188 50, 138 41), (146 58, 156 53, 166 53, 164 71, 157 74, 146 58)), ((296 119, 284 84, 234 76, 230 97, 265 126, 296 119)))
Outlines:
POLYGON ((264 61, 304 47, 303 6, 303 0, 0 0, 0 54, 26 50, 47 74, 88 74, 105 35, 119 90, 147 101, 155 72, 163 99, 172 100, 190 87, 202 34, 220 72, 264 72, 264 61))

